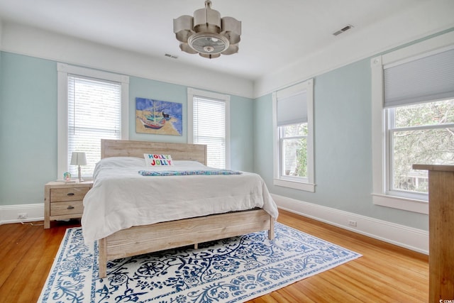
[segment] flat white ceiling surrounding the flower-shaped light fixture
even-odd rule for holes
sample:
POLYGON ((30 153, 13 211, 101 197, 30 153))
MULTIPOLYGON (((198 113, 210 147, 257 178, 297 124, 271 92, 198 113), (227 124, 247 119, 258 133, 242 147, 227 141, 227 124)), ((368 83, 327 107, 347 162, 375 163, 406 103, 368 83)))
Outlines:
MULTIPOLYGON (((176 60, 180 62, 254 80, 292 65, 301 57, 336 48, 336 44, 346 37, 353 41, 354 47, 355 43, 367 40, 368 28, 385 25, 390 28, 394 25, 389 22, 396 23, 397 17, 409 8, 428 2, 431 5, 448 3, 445 0, 212 2, 212 9, 219 11, 221 16, 232 16, 242 22, 238 54, 209 60, 179 50, 172 20, 181 15, 192 15, 196 9, 204 7, 204 0, 0 0, 0 21, 55 31, 162 57, 162 60, 173 60, 165 54, 177 55, 176 60), (347 24, 354 28, 333 35, 347 24)), ((452 5, 449 7, 453 8, 452 5)), ((433 28, 429 30, 433 31, 433 28)))

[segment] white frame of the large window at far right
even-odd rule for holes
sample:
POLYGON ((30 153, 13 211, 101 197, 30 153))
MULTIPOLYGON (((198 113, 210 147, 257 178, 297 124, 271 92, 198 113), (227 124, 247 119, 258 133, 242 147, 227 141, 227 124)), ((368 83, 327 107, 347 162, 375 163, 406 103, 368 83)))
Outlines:
POLYGON ((426 56, 454 45, 454 32, 438 35, 406 48, 372 58, 372 202, 375 205, 428 214, 428 202, 387 194, 387 153, 383 110, 383 66, 415 56, 426 56))

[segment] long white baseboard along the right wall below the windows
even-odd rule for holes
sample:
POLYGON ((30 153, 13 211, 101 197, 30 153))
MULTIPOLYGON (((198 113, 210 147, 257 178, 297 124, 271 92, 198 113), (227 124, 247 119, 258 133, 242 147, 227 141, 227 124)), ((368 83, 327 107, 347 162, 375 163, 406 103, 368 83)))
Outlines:
POLYGON ((428 231, 302 202, 277 194, 272 194, 272 197, 281 209, 428 255, 428 231), (350 226, 349 221, 356 222, 356 226, 350 226))

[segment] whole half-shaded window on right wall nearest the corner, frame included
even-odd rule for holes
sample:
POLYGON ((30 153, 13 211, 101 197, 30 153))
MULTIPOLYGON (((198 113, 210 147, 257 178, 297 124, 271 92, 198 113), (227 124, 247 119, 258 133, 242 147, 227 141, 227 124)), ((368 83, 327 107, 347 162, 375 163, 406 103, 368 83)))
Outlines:
POLYGON ((273 94, 275 185, 314 192, 312 109, 312 80, 273 94))

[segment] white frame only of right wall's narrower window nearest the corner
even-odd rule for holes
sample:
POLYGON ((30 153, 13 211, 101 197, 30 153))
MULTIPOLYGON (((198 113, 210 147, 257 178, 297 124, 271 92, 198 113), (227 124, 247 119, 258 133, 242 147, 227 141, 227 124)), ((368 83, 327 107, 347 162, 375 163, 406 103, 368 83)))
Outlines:
POLYGON ((289 187, 306 192, 315 192, 314 183, 314 79, 295 84, 287 88, 294 92, 306 91, 307 106, 307 177, 284 177, 279 167, 279 133, 277 126, 277 92, 272 93, 272 123, 273 123, 273 184, 280 187, 289 187))

